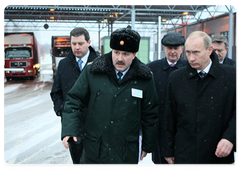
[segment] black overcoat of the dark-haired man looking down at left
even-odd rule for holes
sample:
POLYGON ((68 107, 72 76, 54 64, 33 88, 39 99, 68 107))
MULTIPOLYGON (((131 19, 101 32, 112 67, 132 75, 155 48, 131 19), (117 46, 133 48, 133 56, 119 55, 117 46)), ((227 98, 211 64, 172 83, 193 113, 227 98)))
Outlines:
MULTIPOLYGON (((92 62, 98 55, 91 46, 89 46, 89 50, 90 54, 87 62, 92 62)), ((62 115, 67 92, 73 87, 80 74, 81 71, 76 62, 76 57, 73 55, 72 50, 70 50, 68 56, 59 62, 50 93, 57 116, 62 115)))

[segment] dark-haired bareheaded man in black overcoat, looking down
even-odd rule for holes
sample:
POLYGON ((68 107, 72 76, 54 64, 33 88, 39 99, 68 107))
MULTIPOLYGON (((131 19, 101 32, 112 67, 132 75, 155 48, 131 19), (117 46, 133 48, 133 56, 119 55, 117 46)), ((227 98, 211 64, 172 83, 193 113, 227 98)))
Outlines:
MULTIPOLYGON (((68 56, 59 62, 57 74, 50 93, 54 104, 54 111, 56 115, 61 118, 68 91, 73 87, 86 64, 97 58, 96 52, 90 46, 90 36, 86 29, 76 27, 70 32, 70 37, 71 50, 68 56)), ((72 139, 69 141, 69 150, 74 165, 82 164, 80 158, 83 151, 83 143, 81 140, 84 133, 83 131, 83 129, 79 131, 78 143, 72 139)))

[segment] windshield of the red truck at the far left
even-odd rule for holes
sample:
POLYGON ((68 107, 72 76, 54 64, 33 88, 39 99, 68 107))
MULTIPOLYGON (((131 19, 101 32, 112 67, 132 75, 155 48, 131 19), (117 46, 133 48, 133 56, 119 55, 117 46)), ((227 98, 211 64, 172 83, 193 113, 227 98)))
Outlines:
POLYGON ((30 48, 7 48, 5 50, 6 58, 30 58, 30 48))

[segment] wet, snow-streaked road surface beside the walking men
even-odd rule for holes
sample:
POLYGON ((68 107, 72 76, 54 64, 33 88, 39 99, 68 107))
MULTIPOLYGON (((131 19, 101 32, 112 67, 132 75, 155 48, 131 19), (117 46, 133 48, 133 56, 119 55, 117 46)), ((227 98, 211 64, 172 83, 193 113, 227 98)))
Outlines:
MULTIPOLYGON (((34 80, 2 80, 2 164, 72 165, 50 98, 51 65, 34 80)), ((151 154, 139 165, 153 165, 151 154)))

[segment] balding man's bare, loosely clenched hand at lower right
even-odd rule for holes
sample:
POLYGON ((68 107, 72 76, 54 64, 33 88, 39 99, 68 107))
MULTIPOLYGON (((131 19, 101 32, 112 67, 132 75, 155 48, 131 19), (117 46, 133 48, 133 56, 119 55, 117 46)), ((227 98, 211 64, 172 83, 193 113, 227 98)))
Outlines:
POLYGON ((233 144, 227 139, 221 139, 218 142, 215 155, 219 158, 228 156, 233 148, 233 144))

